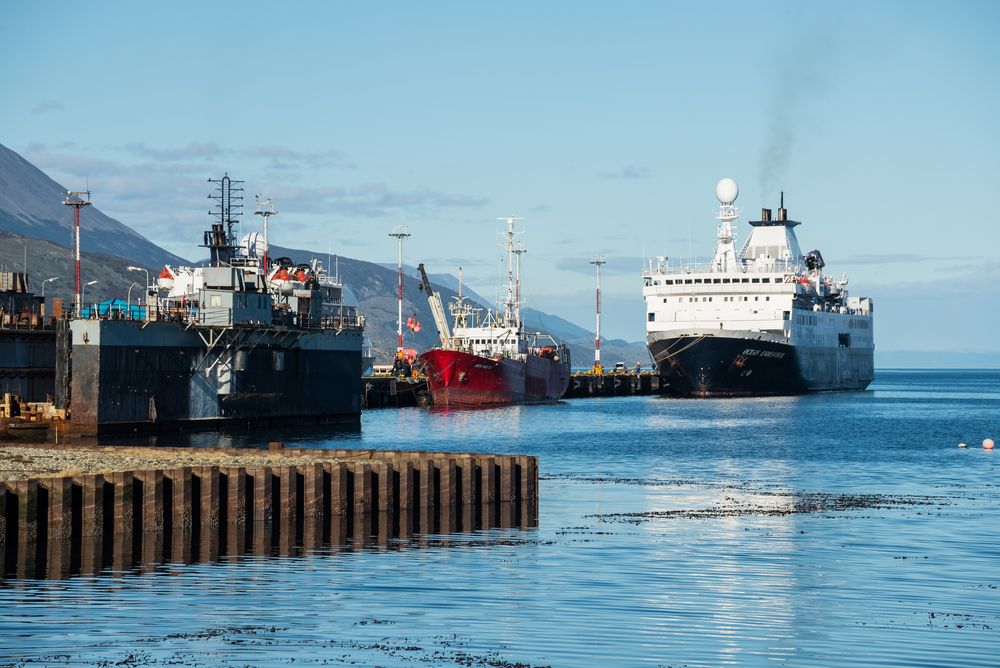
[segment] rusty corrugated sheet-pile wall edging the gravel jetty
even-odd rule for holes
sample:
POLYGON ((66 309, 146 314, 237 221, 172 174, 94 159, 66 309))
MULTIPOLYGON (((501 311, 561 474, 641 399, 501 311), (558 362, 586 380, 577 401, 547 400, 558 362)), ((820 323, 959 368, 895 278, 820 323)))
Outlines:
POLYGON ((538 525, 537 465, 530 457, 395 468, 195 467, 22 481, 0 490, 0 565, 7 578, 449 546, 446 536, 431 535, 538 525))

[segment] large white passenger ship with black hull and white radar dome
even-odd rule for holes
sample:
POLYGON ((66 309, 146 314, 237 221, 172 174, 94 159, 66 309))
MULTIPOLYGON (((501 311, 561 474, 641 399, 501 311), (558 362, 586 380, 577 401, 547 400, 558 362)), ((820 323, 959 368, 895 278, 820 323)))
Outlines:
POLYGON ((712 262, 650 259, 643 272, 650 355, 675 396, 733 397, 864 390, 874 377, 872 300, 803 254, 782 194, 737 251, 739 188, 722 179, 712 262))

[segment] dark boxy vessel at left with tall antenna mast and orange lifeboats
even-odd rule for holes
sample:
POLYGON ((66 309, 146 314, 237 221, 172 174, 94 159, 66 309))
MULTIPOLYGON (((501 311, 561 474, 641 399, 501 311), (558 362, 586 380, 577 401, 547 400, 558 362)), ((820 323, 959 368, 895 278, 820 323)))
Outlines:
POLYGON ((272 261, 255 234, 237 242, 235 182, 219 183, 218 222, 205 233, 210 266, 164 267, 144 307, 83 312, 91 317, 70 323, 71 354, 59 375, 70 378, 75 428, 360 420, 357 300, 316 261, 272 261))

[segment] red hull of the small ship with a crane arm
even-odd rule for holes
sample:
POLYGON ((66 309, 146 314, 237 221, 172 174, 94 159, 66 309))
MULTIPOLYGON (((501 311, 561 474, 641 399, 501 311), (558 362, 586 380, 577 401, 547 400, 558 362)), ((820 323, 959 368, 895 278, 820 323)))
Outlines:
POLYGON ((420 356, 435 406, 496 406, 558 401, 569 362, 529 355, 520 362, 435 348, 420 356))

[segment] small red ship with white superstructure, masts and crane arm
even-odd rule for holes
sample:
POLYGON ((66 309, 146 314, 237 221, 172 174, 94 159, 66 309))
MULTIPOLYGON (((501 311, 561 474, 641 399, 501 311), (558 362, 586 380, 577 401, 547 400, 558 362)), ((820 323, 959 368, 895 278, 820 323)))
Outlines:
POLYGON ((525 332, 521 321, 520 256, 514 247, 514 218, 507 225, 507 299, 503 310, 483 317, 459 294, 451 304, 454 331, 441 298, 420 265, 423 285, 441 336, 441 345, 419 361, 435 406, 496 406, 558 401, 570 379, 569 348, 541 333, 525 332), (514 258, 517 258, 515 260, 514 258), (516 265, 516 266, 515 266, 516 265))

